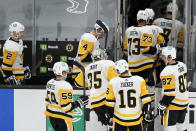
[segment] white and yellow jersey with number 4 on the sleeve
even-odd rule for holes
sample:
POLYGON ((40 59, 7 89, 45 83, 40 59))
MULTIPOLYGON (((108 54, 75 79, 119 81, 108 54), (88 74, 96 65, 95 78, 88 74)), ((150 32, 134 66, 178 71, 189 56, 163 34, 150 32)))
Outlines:
MULTIPOLYGON (((86 67, 92 62, 90 57, 91 52, 98 49, 99 46, 100 43, 94 35, 91 33, 84 33, 80 38, 76 60, 80 61, 83 66, 86 67)), ((73 73, 77 74, 79 72, 80 70, 74 66, 73 73)))

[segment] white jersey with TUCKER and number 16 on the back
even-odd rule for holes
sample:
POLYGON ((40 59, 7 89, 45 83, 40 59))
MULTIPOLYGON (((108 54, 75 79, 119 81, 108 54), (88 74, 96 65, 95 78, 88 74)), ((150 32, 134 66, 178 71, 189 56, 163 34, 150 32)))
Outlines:
POLYGON ((139 125, 142 105, 151 102, 146 83, 140 76, 113 78, 108 84, 106 106, 114 108, 113 121, 124 126, 139 125))

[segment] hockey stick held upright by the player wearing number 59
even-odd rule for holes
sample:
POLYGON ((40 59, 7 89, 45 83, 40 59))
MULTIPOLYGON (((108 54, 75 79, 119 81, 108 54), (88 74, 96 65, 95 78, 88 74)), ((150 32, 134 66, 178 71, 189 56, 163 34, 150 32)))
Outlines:
MULTIPOLYGON (((83 73, 83 95, 86 95, 86 87, 85 87, 85 68, 84 66, 79 62, 74 60, 73 61, 73 65, 77 66, 78 68, 80 68, 80 70, 83 73)), ((86 106, 84 106, 84 131, 86 131, 86 106)))

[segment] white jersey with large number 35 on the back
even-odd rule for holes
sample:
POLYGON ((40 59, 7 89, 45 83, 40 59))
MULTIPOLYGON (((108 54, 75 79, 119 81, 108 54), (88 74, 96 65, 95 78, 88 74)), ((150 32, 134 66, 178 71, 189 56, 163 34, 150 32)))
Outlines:
MULTIPOLYGON (((80 86, 83 85, 82 74, 81 72, 75 79, 76 84, 80 86)), ((90 90, 91 109, 105 104, 108 82, 117 76, 114 71, 114 62, 111 60, 99 60, 85 68, 85 81, 90 90)))

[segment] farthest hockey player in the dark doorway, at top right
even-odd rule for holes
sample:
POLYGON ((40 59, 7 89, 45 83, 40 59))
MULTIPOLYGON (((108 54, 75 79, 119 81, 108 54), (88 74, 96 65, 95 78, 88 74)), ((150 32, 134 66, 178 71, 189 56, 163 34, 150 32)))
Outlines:
MULTIPOLYGON (((168 41, 168 45, 170 46, 174 46, 175 48, 177 48, 177 50, 183 50, 183 46, 184 46, 184 25, 182 22, 180 22, 179 20, 175 20, 175 28, 172 29, 172 10, 173 10, 173 4, 172 2, 169 3, 167 5, 166 8, 166 16, 165 18, 157 18, 155 19, 155 21, 153 22, 153 24, 161 27, 164 31, 164 34, 168 37, 169 41, 168 41), (172 30, 175 30, 174 32, 174 42, 172 43, 172 30)), ((176 14, 178 12, 178 6, 176 5, 176 14)), ((180 52, 177 52, 180 53, 180 52)), ((177 55, 177 57, 182 57, 183 54, 179 54, 177 55)), ((181 61, 183 58, 180 58, 181 61)))

